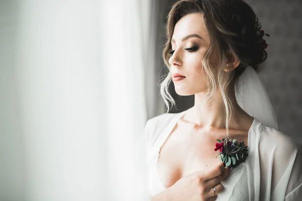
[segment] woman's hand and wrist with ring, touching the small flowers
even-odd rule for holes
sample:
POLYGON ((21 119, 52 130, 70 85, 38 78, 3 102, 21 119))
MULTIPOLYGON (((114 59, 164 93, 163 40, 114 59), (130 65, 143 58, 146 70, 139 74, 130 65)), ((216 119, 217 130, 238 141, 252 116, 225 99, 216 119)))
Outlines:
POLYGON ((220 183, 230 173, 230 168, 224 167, 219 163, 208 172, 194 172, 188 176, 179 179, 174 185, 162 191, 152 198, 156 200, 173 200, 173 201, 212 201, 217 194, 222 192, 223 186, 220 183), (215 194, 213 191, 215 187, 215 194))

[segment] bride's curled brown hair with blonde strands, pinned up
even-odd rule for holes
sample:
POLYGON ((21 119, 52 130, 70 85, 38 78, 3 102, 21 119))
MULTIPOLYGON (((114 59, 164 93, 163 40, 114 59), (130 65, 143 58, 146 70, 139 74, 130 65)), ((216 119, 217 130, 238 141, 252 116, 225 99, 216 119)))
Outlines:
POLYGON ((233 105, 236 101, 226 95, 228 86, 235 83, 234 87, 236 87, 236 81, 248 65, 258 72, 260 64, 267 58, 267 52, 261 44, 263 37, 263 32, 260 32, 261 24, 253 9, 242 0, 181 0, 176 2, 168 14, 167 42, 163 50, 168 74, 161 83, 161 95, 167 106, 167 113, 171 109, 170 104, 171 107, 175 106, 175 101, 169 93, 169 84, 172 79, 169 52, 172 50, 171 40, 174 28, 183 16, 194 13, 203 14, 206 28, 210 33, 210 46, 202 58, 201 69, 207 83, 205 104, 211 102, 218 87, 226 110, 225 127, 228 135, 233 105), (209 62, 209 56, 214 49, 218 49, 217 71, 214 71, 209 62), (232 54, 240 60, 240 64, 234 70, 225 72, 225 64, 230 61, 232 54))

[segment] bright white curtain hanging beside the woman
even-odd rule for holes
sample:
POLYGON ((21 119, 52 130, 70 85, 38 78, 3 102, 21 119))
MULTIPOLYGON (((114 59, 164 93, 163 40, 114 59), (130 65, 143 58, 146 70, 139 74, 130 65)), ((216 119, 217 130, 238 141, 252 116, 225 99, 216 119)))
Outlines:
POLYGON ((0 4, 0 200, 147 200, 152 1, 0 4))

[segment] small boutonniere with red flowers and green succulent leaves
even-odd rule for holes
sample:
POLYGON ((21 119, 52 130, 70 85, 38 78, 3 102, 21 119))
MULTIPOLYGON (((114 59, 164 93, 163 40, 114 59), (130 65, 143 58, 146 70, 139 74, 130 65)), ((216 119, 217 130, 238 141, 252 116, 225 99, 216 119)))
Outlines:
POLYGON ((237 140, 228 137, 225 137, 222 141, 217 141, 219 143, 216 143, 214 150, 219 150, 220 153, 217 156, 220 156, 220 161, 223 162, 224 166, 236 167, 248 157, 249 148, 244 144, 244 141, 238 143, 237 140))

